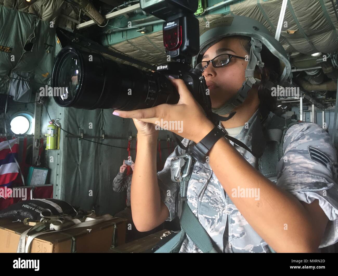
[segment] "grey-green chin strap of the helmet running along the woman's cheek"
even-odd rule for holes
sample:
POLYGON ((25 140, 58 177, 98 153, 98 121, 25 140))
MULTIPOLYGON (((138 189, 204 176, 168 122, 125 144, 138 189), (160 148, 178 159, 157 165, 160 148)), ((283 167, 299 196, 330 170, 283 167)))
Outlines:
POLYGON ((261 59, 261 50, 262 43, 258 39, 251 37, 250 58, 245 70, 245 81, 237 93, 223 106, 220 108, 212 108, 213 113, 217 115, 225 115, 230 113, 235 107, 244 102, 248 91, 252 88, 252 85, 259 84, 261 82, 259 79, 254 77, 256 65, 261 68, 264 66, 264 63, 261 59))

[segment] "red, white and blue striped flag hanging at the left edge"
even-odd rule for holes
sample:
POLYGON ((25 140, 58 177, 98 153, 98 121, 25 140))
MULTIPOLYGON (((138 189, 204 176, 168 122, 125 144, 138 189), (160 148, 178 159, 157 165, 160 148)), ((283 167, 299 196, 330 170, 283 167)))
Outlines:
POLYGON ((0 187, 11 187, 19 174, 19 167, 15 162, 19 154, 19 137, 0 143, 0 187), (12 150, 10 150, 8 142, 12 150))

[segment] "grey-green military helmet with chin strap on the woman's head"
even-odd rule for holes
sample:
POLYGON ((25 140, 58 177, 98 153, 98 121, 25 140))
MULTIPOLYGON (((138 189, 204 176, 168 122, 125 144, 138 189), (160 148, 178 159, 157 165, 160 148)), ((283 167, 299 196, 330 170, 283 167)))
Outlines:
POLYGON ((211 46, 222 40, 224 37, 232 35, 251 37, 250 58, 245 70, 245 81, 242 88, 239 89, 237 94, 226 103, 226 107, 217 110, 213 109, 215 113, 220 115, 229 113, 236 106, 244 102, 247 92, 252 85, 260 83, 260 80, 254 77, 254 71, 256 65, 260 67, 264 66, 260 54, 262 45, 265 45, 280 61, 281 70, 280 72, 276 72, 279 74, 279 83, 283 84, 291 73, 291 64, 283 46, 271 35, 269 30, 262 23, 245 16, 222 17, 211 22, 209 28, 206 28, 200 33, 200 50, 199 53, 193 57, 192 65, 195 67, 196 64, 201 62, 204 53, 211 46))

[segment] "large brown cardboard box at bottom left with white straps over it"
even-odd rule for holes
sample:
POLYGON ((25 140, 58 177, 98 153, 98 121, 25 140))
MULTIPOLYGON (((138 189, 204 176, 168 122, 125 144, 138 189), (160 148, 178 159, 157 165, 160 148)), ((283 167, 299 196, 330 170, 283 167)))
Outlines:
MULTIPOLYGON (((78 253, 107 252, 112 243, 115 242, 115 246, 125 243, 126 222, 126 219, 113 218, 90 227, 42 234, 32 241, 30 252, 70 253, 74 243, 78 253)), ((21 233, 30 227, 23 222, 0 219, 0 253, 17 252, 21 233)))

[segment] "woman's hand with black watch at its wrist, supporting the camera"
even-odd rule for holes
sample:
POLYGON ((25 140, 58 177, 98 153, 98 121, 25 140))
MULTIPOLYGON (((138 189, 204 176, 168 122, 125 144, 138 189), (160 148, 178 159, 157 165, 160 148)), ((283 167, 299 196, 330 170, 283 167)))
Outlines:
POLYGON ((204 110, 194 99, 184 81, 171 78, 170 80, 179 93, 177 104, 161 104, 132 111, 118 110, 113 114, 123 118, 136 118, 144 122, 153 123, 198 143, 215 126, 204 114, 204 110))

